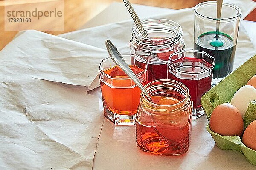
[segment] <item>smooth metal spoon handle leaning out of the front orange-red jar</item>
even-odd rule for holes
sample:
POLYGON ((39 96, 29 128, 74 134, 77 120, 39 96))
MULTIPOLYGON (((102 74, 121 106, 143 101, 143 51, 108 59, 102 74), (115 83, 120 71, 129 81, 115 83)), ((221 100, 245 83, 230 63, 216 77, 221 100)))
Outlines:
POLYGON ((140 81, 137 79, 135 74, 131 71, 131 68, 128 66, 128 64, 125 62, 125 59, 122 57, 122 55, 117 50, 116 46, 112 44, 110 40, 106 40, 106 47, 108 50, 108 54, 113 60, 113 62, 118 65, 122 71, 124 71, 133 81, 134 83, 140 88, 140 90, 145 94, 145 96, 148 98, 150 102, 153 102, 151 97, 149 96, 148 92, 145 90, 143 85, 140 83, 140 81))

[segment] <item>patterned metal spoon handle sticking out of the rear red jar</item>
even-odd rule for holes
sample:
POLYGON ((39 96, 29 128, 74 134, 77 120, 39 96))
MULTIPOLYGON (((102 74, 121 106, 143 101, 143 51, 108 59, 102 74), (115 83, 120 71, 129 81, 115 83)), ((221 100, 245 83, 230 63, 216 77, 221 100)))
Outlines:
POLYGON ((147 31, 145 30, 143 24, 141 23, 140 18, 138 17, 136 12, 134 11, 134 8, 131 6, 131 3, 129 2, 129 0, 123 0, 123 1, 125 3, 126 8, 129 11, 129 13, 131 14, 131 17, 134 20, 134 23, 136 24, 137 28, 139 29, 142 37, 149 38, 147 31))

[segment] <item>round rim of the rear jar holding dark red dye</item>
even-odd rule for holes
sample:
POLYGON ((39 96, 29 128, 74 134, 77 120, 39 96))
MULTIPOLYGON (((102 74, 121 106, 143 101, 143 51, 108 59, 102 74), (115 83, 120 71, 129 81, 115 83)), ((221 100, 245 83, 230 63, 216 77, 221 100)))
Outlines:
POLYGON ((147 19, 147 20, 143 20, 141 21, 141 23, 144 25, 148 22, 152 22, 152 21, 155 21, 154 23, 157 24, 157 22, 159 21, 165 21, 167 23, 172 23, 173 25, 177 26, 178 28, 178 32, 177 34, 171 36, 171 37, 166 37, 166 38, 159 38, 159 39, 154 39, 154 38, 145 38, 145 37, 142 37, 142 36, 139 36, 136 31, 138 30, 137 26, 134 25, 133 28, 132 28, 132 34, 134 34, 134 37, 136 37, 137 39, 138 38, 141 38, 143 40, 154 40, 154 41, 163 41, 163 40, 172 40, 174 39, 175 37, 178 37, 180 34, 182 34, 182 28, 180 26, 180 24, 176 23, 175 21, 172 21, 172 20, 168 20, 168 19, 163 19, 163 18, 154 18, 154 19, 147 19))

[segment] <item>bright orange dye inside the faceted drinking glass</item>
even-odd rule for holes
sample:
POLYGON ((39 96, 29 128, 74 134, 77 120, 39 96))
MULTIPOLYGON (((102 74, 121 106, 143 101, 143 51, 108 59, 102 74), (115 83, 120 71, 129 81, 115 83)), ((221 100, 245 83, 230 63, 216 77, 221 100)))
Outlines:
MULTIPOLYGON (((134 74, 144 71, 136 65, 131 65, 130 68, 134 74)), ((120 115, 136 114, 140 103, 140 88, 138 88, 131 79, 121 79, 121 77, 128 77, 118 66, 104 72, 116 78, 108 79, 105 82, 101 81, 104 108, 120 115)), ((145 85, 145 81, 142 82, 142 84, 145 85)), ((106 116, 106 111, 104 113, 106 116)))

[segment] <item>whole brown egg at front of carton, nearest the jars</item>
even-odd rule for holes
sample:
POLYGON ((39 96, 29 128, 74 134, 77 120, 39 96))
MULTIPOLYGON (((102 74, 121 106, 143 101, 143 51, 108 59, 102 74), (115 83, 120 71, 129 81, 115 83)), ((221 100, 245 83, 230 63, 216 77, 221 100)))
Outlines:
POLYGON ((210 129, 223 136, 242 136, 244 121, 235 106, 223 103, 213 110, 210 129))

